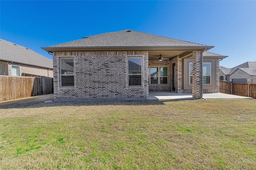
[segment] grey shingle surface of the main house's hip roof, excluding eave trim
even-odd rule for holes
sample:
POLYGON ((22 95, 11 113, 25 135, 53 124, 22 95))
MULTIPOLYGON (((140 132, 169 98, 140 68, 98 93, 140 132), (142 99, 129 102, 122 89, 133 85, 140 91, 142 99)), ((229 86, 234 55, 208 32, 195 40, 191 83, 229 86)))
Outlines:
MULTIPOLYGON (((182 41, 179 39, 173 39, 163 37, 159 35, 153 35, 149 33, 143 33, 140 31, 134 31, 125 29, 122 31, 108 32, 88 37, 83 39, 61 43, 57 45, 51 45, 48 47, 209 47, 207 45, 192 43, 188 41, 182 41)), ((42 47, 43 49, 48 47, 42 47)))

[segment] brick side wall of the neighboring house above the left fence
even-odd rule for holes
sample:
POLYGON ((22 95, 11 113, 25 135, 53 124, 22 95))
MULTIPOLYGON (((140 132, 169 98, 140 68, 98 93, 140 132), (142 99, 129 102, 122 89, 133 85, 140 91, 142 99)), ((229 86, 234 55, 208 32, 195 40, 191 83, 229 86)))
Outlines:
POLYGON ((53 70, 48 68, 42 68, 38 66, 31 66, 27 64, 20 63, 11 63, 6 61, 0 61, 0 65, 2 66, 2 75, 11 76, 12 75, 12 66, 19 67, 19 76, 22 73, 26 74, 34 74, 39 76, 53 77, 53 70))

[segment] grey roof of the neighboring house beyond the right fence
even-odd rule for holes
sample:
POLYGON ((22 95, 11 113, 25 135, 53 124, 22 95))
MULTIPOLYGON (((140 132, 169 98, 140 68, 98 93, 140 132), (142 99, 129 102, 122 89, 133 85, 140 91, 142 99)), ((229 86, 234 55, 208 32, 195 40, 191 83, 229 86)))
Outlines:
POLYGON ((240 64, 233 68, 226 68, 226 67, 220 66, 220 70, 222 70, 222 72, 224 74, 226 74, 226 72, 224 72, 226 69, 227 70, 229 69, 229 72, 227 73, 229 75, 233 74, 238 69, 246 72, 247 74, 256 75, 256 62, 255 61, 247 61, 246 63, 240 64))

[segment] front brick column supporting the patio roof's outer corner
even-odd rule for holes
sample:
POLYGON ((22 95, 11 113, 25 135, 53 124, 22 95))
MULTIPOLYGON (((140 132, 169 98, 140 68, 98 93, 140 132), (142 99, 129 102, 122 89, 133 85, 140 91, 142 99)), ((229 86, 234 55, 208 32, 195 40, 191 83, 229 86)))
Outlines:
POLYGON ((192 81, 192 97, 201 98, 201 51, 193 51, 193 81, 192 81))

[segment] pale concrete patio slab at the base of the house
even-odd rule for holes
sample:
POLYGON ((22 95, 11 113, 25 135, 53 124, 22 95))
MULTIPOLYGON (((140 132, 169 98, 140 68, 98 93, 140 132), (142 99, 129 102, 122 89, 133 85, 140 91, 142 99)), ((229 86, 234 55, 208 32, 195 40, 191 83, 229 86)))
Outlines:
MULTIPOLYGON (((204 99, 251 99, 244 96, 236 96, 224 93, 204 93, 204 99)), ((195 99, 192 98, 192 93, 174 93, 174 92, 149 92, 149 100, 172 100, 172 99, 195 99)))

